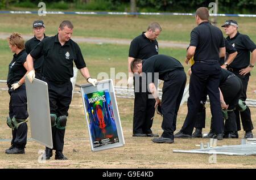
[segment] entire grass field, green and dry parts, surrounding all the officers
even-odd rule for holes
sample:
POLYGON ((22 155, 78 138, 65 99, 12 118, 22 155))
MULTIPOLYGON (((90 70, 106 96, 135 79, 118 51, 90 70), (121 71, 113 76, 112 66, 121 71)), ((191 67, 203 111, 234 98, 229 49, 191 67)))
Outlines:
MULTIPOLYGON (((0 15, 0 33, 18 31, 27 35, 31 34, 31 23, 38 19, 35 15, 0 15)), ((189 33, 195 27, 195 20, 187 16, 139 16, 127 18, 125 16, 79 16, 79 15, 47 15, 43 18, 47 25, 47 35, 54 35, 56 27, 61 20, 70 19, 75 24, 74 36, 82 37, 113 37, 133 38, 144 31, 150 22, 159 22, 163 32, 159 40, 189 41, 189 33), (180 24, 180 25, 179 25, 180 24)), ((220 18, 222 22, 226 18, 220 18)), ((241 32, 247 33, 256 42, 255 19, 238 18, 241 32), (241 23, 240 23, 241 22, 241 23)), ((93 77, 99 72, 110 72, 115 68, 117 72, 127 72, 127 55, 129 46, 114 44, 79 44, 84 54, 86 64, 93 77)), ((160 54, 171 55, 184 62, 185 49, 161 48, 160 54)), ((7 67, 13 53, 10 52, 7 41, 0 40, 0 79, 6 79, 7 67)), ((183 63, 184 65, 184 63, 183 63)), ((185 70, 188 69, 184 65, 185 70)), ((256 70, 252 72, 248 98, 256 99, 256 70)), ((79 74, 77 83, 86 81, 79 74)), ((0 88, 5 88, 1 83, 0 88)), ((76 89, 78 90, 78 89, 76 89)), ((43 145, 28 141, 25 155, 6 155, 5 149, 9 147, 11 130, 6 125, 6 116, 9 110, 9 95, 7 91, 0 91, 0 168, 256 168, 254 156, 217 156, 217 163, 210 164, 209 155, 192 155, 173 153, 173 149, 196 149, 195 144, 207 143, 209 139, 175 139, 174 144, 156 144, 151 138, 133 138, 133 100, 118 98, 118 108, 121 117, 125 146, 101 152, 91 152, 88 131, 85 123, 84 108, 81 95, 75 94, 69 109, 68 125, 65 134, 64 155, 68 161, 49 160, 46 163, 38 162, 38 151, 44 149, 43 145)), ((209 131, 210 110, 207 105, 207 124, 204 132, 209 131)), ((177 130, 183 125, 187 114, 187 104, 180 106, 177 130)), ((251 108, 251 116, 256 125, 256 109, 251 108)), ((162 118, 154 119, 152 130, 161 134, 162 118)), ((28 122, 28 126, 30 123, 28 122)), ((256 131, 253 130, 254 135, 256 131)), ((240 144, 240 139, 224 139, 218 145, 240 144)), ((30 130, 28 132, 30 138, 30 130)))

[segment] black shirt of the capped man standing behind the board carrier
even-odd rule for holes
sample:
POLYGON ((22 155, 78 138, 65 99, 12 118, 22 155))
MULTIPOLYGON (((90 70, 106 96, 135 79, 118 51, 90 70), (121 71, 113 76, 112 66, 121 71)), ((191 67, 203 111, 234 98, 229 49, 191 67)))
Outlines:
MULTIPOLYGON (((48 36, 44 35, 44 38, 47 38, 47 37, 48 36)), ((28 40, 25 43, 25 49, 26 49, 27 54, 29 54, 31 52, 31 50, 33 50, 35 48, 35 46, 39 44, 39 42, 41 42, 41 41, 38 38, 36 38, 35 36, 32 37, 30 40, 28 40)), ((34 69, 36 71, 40 71, 42 64, 43 64, 43 59, 44 59, 43 55, 38 59, 34 59, 34 69)))

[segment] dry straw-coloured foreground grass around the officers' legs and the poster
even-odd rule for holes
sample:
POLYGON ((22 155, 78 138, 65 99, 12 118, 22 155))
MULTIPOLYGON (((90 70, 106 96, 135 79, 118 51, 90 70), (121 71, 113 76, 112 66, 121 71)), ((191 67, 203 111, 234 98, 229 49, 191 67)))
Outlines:
MULTIPOLYGON (((78 90, 78 89, 77 89, 78 90)), ((7 91, 0 91, 1 119, 8 113, 7 91)), ((119 114, 121 117, 125 145, 123 147, 108 149, 100 152, 90 151, 88 131, 85 123, 84 108, 82 108, 81 95, 75 94, 69 109, 68 125, 65 134, 64 155, 68 161, 38 162, 38 151, 44 149, 43 145, 29 141, 25 155, 6 155, 5 149, 10 142, 0 143, 0 168, 256 168, 253 156, 217 156, 216 164, 209 164, 210 155, 192 155, 173 153, 173 149, 196 149, 195 144, 207 143, 209 139, 175 139, 174 144, 156 144, 151 138, 133 138, 132 118, 133 100, 117 98, 119 114)), ((255 119, 255 108, 251 108, 252 118, 255 119)), ((183 124, 187 113, 186 105, 180 107, 177 130, 183 124)), ((207 123, 204 132, 209 131, 210 112, 207 105, 207 123)), ((3 121, 2 121, 3 122, 3 121)), ((152 130, 161 134, 162 119, 156 116, 152 130)), ((255 120, 254 120, 255 124, 255 120)), ((30 123, 28 123, 28 126, 30 123)), ((253 131, 256 134, 255 130, 253 131)), ((5 123, 0 124, 1 139, 10 139, 11 130, 5 123)), ((240 137, 243 133, 240 131, 240 137)), ((30 127, 28 138, 30 137, 30 127)), ((218 145, 240 144, 241 139, 224 139, 218 145)))

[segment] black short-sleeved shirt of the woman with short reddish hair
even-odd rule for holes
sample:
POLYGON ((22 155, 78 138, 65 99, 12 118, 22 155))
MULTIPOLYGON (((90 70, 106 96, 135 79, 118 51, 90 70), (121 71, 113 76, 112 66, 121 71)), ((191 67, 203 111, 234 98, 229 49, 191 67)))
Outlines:
POLYGON ((18 82, 26 74, 27 70, 24 68, 23 64, 26 62, 27 53, 23 49, 19 54, 13 55, 13 60, 9 65, 9 72, 7 77, 7 84, 13 84, 18 82))

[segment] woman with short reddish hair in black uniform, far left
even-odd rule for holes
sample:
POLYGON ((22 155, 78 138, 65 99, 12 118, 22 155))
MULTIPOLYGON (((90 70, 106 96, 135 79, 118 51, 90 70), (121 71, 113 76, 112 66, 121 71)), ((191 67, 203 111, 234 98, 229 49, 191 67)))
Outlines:
POLYGON ((9 65, 7 78, 10 95, 9 117, 7 125, 12 129, 13 139, 7 154, 24 154, 27 144, 27 96, 24 75, 27 72, 27 53, 24 50, 24 39, 19 33, 12 33, 9 37, 9 47, 14 53, 9 65))

